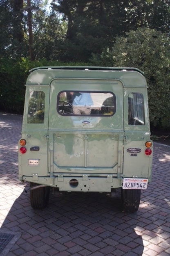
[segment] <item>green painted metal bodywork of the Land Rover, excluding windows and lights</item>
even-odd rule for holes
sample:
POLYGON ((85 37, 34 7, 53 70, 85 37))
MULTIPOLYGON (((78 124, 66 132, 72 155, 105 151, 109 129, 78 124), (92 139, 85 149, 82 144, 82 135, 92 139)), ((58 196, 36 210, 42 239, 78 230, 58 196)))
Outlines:
MULTIPOLYGON (((40 67, 26 82, 22 139, 27 152, 19 152, 19 178, 60 191, 110 192, 124 177, 151 180, 147 84, 137 69, 103 67, 40 67), (44 123, 27 123, 31 91, 45 93, 44 123), (61 91, 103 91, 116 96, 116 112, 106 116, 60 115, 61 91), (145 125, 128 124, 128 95, 143 94, 145 125), (31 151, 39 147, 38 151, 31 151), (141 149, 132 155, 129 148, 141 149), (29 160, 38 165, 29 165, 29 160), (76 180, 76 186, 70 183, 76 180)), ((19 144, 19 148, 20 148, 19 144)), ((152 147, 151 147, 152 149, 152 147)))

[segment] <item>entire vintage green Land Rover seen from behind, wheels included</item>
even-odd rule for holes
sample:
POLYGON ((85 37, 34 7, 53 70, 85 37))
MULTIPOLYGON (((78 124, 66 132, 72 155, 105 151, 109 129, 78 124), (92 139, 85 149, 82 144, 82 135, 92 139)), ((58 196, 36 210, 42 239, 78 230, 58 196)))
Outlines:
POLYGON ((19 179, 33 208, 49 188, 105 192, 121 188, 123 210, 138 210, 151 181, 147 84, 135 68, 38 67, 26 82, 19 179))

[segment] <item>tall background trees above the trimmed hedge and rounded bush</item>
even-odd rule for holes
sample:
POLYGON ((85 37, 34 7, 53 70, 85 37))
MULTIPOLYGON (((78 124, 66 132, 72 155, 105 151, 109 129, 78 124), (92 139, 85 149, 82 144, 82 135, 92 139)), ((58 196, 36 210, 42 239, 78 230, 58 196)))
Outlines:
MULTIPOLYGON (((170 0, 31 0, 31 14, 35 59, 87 62, 130 30, 170 28, 170 0)), ((28 57, 27 0, 0 1, 0 28, 0 54, 28 57)))

